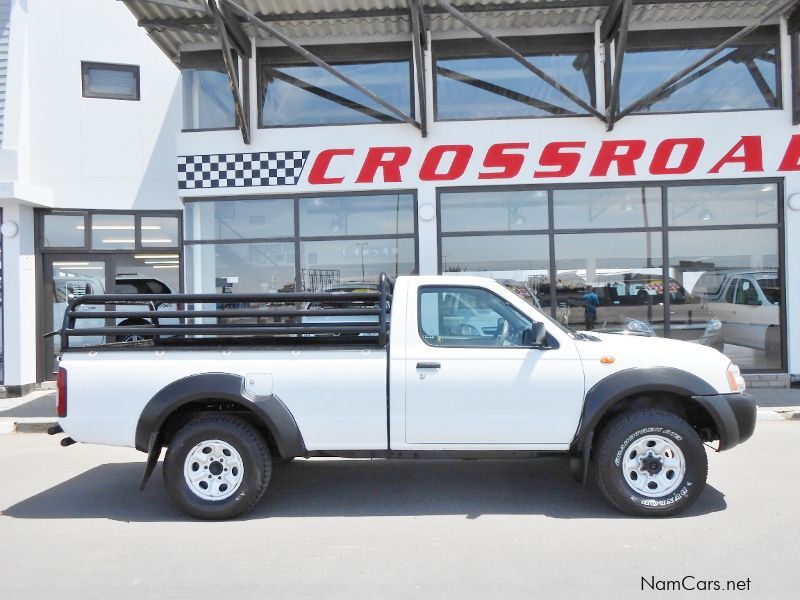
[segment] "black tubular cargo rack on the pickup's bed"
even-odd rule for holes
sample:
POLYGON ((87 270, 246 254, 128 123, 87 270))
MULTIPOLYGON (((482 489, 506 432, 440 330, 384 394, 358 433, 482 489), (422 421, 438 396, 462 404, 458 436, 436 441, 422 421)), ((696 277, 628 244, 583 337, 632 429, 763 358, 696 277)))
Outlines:
MULTIPOLYGON (((365 284, 366 285, 366 284, 365 284)), ((96 346, 132 346, 126 342, 109 342, 120 336, 140 336, 148 345, 207 345, 221 343, 252 343, 253 345, 285 342, 294 344, 331 344, 357 341, 359 344, 385 346, 389 338, 389 307, 393 281, 385 274, 378 277, 374 292, 277 292, 269 294, 98 294, 73 298, 64 312, 60 330, 61 349, 70 348, 70 339, 102 336, 96 346), (308 308, 311 303, 324 302, 341 308, 308 308), (364 307, 353 307, 364 303, 364 307), (164 304, 184 305, 177 310, 158 310, 164 304), (203 305, 214 304, 214 309, 203 305), (241 308, 241 304, 259 304, 256 308, 241 308), (85 306, 104 307, 104 310, 80 310, 85 306), (149 310, 114 310, 117 306, 147 305, 149 310), (275 306, 279 305, 279 306, 275 306), (288 305, 288 306, 287 306, 288 305), (294 306, 292 306, 294 305, 294 306), (198 307, 199 306, 199 307, 198 307), (111 307, 111 310, 108 310, 111 307), (335 323, 304 322, 305 317, 358 317, 335 323), (367 319, 363 319, 367 317, 367 319), (375 317, 371 319, 369 317, 375 317), (269 319, 269 322, 196 323, 195 319, 231 318, 269 319), (278 318, 280 321, 275 321, 278 318), (103 327, 77 327, 83 319, 105 319, 103 327), (119 326, 115 319, 149 320, 150 324, 119 326), (178 323, 161 325, 164 319, 178 323), (192 322, 186 322, 187 320, 192 322)), ((237 344, 237 345, 238 345, 237 344)), ((75 346, 73 346, 75 348, 75 346)))

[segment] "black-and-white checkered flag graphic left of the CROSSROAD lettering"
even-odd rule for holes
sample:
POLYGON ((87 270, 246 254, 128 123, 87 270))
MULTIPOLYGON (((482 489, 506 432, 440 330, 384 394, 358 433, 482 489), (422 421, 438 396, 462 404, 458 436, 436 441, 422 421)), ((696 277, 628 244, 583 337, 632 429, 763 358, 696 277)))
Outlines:
POLYGON ((178 188, 296 185, 308 155, 308 150, 287 150, 179 156, 178 188))

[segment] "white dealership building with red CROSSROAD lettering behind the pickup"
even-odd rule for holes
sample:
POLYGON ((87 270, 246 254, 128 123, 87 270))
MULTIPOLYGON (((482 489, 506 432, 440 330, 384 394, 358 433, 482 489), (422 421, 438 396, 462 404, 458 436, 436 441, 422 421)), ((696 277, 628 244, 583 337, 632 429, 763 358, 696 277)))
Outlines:
POLYGON ((575 328, 591 286, 597 330, 800 374, 800 2, 0 13, 7 394, 53 378, 76 295, 381 272, 492 277, 575 328))

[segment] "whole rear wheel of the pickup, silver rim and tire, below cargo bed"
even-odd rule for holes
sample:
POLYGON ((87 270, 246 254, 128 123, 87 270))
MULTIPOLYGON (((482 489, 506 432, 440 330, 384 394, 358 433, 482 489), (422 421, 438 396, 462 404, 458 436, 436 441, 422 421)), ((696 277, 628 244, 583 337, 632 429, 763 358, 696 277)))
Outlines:
POLYGON ((164 458, 170 497, 200 519, 229 519, 249 511, 264 495, 271 472, 262 436, 230 416, 190 421, 172 438, 164 458))

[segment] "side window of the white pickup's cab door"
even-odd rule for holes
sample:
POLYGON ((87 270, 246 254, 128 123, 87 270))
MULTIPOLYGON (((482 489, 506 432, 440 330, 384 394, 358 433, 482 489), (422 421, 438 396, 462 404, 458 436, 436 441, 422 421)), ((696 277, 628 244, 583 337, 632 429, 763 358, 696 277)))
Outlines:
POLYGON ((530 319, 488 290, 426 287, 419 291, 419 333, 430 346, 520 347, 530 319))

